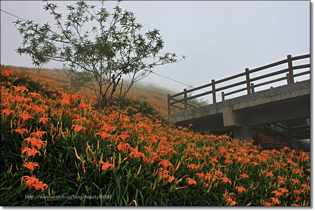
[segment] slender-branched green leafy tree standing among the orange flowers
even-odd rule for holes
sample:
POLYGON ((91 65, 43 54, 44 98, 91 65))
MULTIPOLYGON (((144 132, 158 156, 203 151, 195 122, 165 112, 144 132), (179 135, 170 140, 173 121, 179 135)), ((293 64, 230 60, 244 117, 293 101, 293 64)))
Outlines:
POLYGON ((164 41, 158 29, 143 35, 139 33, 142 25, 132 12, 120 8, 120 1, 112 13, 104 3, 100 1, 98 11, 85 1, 67 5, 69 12, 63 23, 57 4, 46 1, 44 10, 54 17, 56 30, 49 23, 14 22, 23 35, 23 46, 16 52, 30 55, 35 66, 51 60, 63 62, 63 68, 93 85, 99 107, 122 100, 132 84, 148 76, 154 67, 180 61, 175 53, 159 54, 164 41), (88 31, 90 22, 95 26, 88 31))

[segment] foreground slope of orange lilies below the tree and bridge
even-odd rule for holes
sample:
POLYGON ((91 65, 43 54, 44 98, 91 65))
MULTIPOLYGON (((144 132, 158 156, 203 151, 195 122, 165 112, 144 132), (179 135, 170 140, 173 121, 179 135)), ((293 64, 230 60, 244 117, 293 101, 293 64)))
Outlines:
POLYGON ((199 134, 1 66, 1 206, 311 206, 310 153, 199 134), (46 85, 47 86, 47 85, 46 85))

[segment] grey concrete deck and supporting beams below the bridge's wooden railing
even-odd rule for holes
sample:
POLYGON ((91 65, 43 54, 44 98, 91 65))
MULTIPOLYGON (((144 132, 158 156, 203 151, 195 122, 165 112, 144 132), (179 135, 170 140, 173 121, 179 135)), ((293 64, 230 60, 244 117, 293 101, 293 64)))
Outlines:
POLYGON ((252 139, 261 125, 310 118, 311 81, 305 80, 254 92, 219 103, 167 115, 176 125, 197 132, 232 132, 239 139, 252 139))

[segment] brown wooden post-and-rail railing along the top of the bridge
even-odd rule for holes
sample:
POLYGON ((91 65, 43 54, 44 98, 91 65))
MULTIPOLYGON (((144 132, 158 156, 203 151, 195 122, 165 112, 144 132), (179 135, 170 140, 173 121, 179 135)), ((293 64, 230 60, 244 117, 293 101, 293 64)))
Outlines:
POLYGON ((213 103, 217 103, 216 95, 220 91, 221 91, 221 100, 224 101, 225 100, 225 96, 236 94, 236 93, 240 93, 242 91, 247 91, 247 94, 251 94, 251 93, 253 93, 255 91, 256 87, 263 86, 263 85, 266 85, 266 84, 275 83, 275 82, 282 81, 282 80, 286 80, 287 84, 294 83, 294 78, 295 77, 299 77, 299 76, 310 74, 311 71, 307 70, 307 71, 296 73, 296 74, 294 74, 293 71, 294 70, 298 70, 298 69, 310 68, 311 67, 310 63, 311 62, 308 63, 308 64, 293 66, 292 65, 292 61, 305 59, 305 58, 310 58, 310 57, 311 57, 311 54, 300 55, 300 56, 295 56, 295 57, 292 57, 291 55, 287 55, 286 59, 278 61, 278 62, 275 62, 275 63, 272 63, 272 64, 268 64, 268 65, 265 65, 265 66, 262 66, 262 67, 258 67, 258 68, 252 69, 252 70, 249 70, 249 68, 246 68, 245 72, 243 72, 243 73, 240 73, 240 74, 237 74, 237 75, 234 75, 234 76, 231 76, 231 77, 227 77, 225 79, 217 80, 217 81, 212 79, 211 83, 208 83, 208 84, 205 84, 205 85, 202 85, 202 86, 198 86, 196 88, 189 89, 189 90, 184 89, 183 92, 180 92, 180 93, 177 93, 177 94, 174 94, 174 95, 168 94, 167 95, 168 114, 171 114, 171 107, 172 106, 176 107, 176 108, 179 108, 181 110, 188 110, 189 107, 199 107, 199 106, 196 106, 196 105, 193 105, 193 104, 189 103, 189 100, 196 99, 196 98, 199 98, 199 97, 202 97, 202 96, 205 96, 205 95, 210 95, 211 94, 212 95, 212 102, 213 103), (254 78, 250 77, 250 76, 252 76, 253 73, 256 73, 256 72, 259 72, 259 71, 262 71, 262 70, 266 70, 268 68, 276 67, 276 66, 279 66, 279 65, 282 65, 282 64, 285 64, 285 63, 287 63, 287 68, 285 68, 285 69, 278 70, 278 71, 273 71, 272 73, 264 74, 264 75, 261 75, 261 76, 256 76, 254 78), (286 75, 284 77, 280 77, 279 76, 280 74, 284 75, 284 73, 286 73, 286 75), (261 80, 261 79, 267 79, 267 78, 273 77, 273 76, 277 76, 278 78, 277 79, 267 80, 267 81, 264 81, 264 82, 259 82, 259 83, 256 83, 256 84, 253 83, 253 81, 257 81, 257 80, 261 80), (245 77, 245 80, 243 79, 240 82, 232 83, 233 79, 238 79, 238 78, 241 78, 241 77, 245 77), (218 84, 223 84, 223 82, 231 82, 232 84, 216 88, 216 86, 218 84), (239 85, 243 85, 244 86, 244 84, 245 84, 245 87, 238 88, 237 90, 233 90, 233 91, 228 91, 226 93, 224 92, 227 89, 230 89, 230 88, 233 88, 233 87, 236 87, 236 86, 239 86, 239 85), (199 94, 196 94, 196 95, 191 95, 192 92, 197 91, 197 90, 202 90, 202 89, 207 88, 207 87, 210 87, 211 90, 210 91, 205 91, 205 92, 202 92, 202 93, 199 93, 199 94), (181 99, 176 99, 176 97, 181 97, 181 99))

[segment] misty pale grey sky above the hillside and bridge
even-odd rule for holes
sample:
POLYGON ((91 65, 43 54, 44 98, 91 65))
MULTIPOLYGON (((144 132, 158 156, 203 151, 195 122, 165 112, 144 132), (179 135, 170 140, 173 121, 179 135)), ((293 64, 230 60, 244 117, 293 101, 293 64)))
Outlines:
MULTIPOLYGON (((53 1, 65 17, 66 4, 53 1)), ((89 1, 99 4, 98 1, 89 1)), ((1 10, 35 23, 53 24, 45 3, 1 0, 1 10)), ((107 1, 113 8, 116 1, 107 1)), ((165 41, 164 52, 186 60, 157 67, 154 72, 194 87, 223 79, 292 56, 311 53, 309 0, 278 1, 122 1, 143 25, 142 33, 158 28, 165 41)), ((110 10, 112 11, 112 10, 110 10)), ((32 66, 30 56, 15 53, 22 42, 17 18, 1 11, 1 64, 32 66)), ((61 68, 51 62, 47 68, 61 68)), ((151 74, 144 82, 182 91, 187 85, 151 74)))

